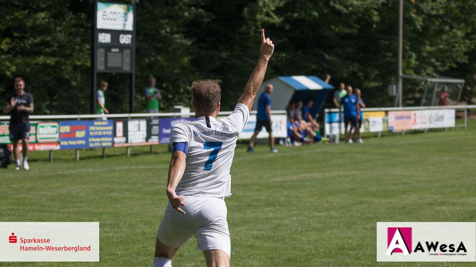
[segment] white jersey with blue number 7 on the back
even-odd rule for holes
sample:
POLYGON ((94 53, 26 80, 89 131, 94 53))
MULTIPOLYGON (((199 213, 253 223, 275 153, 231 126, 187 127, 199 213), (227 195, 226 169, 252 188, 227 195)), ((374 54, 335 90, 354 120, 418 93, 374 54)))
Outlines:
POLYGON ((177 123, 170 143, 188 142, 186 167, 177 195, 231 196, 231 167, 239 133, 249 117, 248 107, 238 104, 228 117, 215 120, 202 116, 177 123))

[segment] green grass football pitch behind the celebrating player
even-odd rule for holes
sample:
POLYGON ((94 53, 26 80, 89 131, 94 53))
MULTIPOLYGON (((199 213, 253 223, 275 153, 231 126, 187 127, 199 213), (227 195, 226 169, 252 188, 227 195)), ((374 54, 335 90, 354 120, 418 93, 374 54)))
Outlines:
MULTIPOLYGON (((364 144, 239 145, 226 200, 232 266, 473 266, 377 263, 376 222, 475 222, 476 124, 364 144)), ((151 266, 167 197, 165 145, 32 152, 29 172, 0 170, 0 221, 100 222, 99 263, 5 266, 151 266)), ((174 266, 205 266, 194 237, 174 266)))

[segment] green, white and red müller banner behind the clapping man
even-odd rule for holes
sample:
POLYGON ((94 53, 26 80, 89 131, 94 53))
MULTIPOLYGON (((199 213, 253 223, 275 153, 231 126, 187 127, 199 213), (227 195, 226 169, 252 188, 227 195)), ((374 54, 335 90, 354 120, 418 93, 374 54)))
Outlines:
MULTIPOLYGON (((9 123, 0 123, 0 143, 11 144, 9 123)), ((58 150, 59 125, 57 122, 30 123, 30 136, 28 138, 29 150, 58 150)), ((10 146, 11 149, 11 146, 10 146)), ((21 144, 20 144, 21 149, 21 144)))

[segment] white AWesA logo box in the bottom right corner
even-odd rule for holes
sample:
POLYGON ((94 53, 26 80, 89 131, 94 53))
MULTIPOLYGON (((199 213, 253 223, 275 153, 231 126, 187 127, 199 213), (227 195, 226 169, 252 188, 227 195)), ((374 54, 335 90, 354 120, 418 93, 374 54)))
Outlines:
POLYGON ((475 262, 476 223, 377 223, 377 262, 475 262))

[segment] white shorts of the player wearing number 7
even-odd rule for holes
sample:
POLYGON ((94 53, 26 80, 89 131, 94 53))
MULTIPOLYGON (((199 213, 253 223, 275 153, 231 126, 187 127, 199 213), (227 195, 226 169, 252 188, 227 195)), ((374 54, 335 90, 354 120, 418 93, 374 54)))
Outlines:
POLYGON ((192 234, 197 238, 200 251, 218 249, 231 255, 230 231, 227 222, 227 205, 218 197, 185 196, 185 214, 167 205, 160 223, 157 238, 164 245, 181 247, 192 234))

